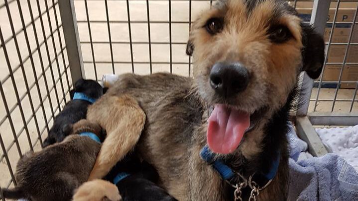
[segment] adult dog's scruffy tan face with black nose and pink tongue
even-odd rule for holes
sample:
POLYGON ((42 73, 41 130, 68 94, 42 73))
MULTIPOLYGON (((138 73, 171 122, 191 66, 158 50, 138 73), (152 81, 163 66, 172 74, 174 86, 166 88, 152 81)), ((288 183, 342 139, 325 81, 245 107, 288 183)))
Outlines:
POLYGON ((193 23, 187 54, 193 56, 200 96, 215 106, 209 146, 221 140, 229 148, 211 148, 231 153, 242 136, 232 136, 231 142, 209 133, 220 133, 223 121, 224 130, 243 133, 262 111, 267 115, 281 108, 299 72, 320 75, 324 42, 283 0, 219 0, 193 23))

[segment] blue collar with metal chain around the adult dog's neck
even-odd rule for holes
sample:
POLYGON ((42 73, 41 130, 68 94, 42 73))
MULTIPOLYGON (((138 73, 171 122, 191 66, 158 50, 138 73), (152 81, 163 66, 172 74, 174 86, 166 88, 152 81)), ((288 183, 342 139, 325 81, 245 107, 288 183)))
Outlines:
MULTIPOLYGON (((208 146, 204 146, 204 148, 200 152, 200 156, 205 162, 213 165, 213 168, 220 174, 220 176, 227 181, 230 181, 236 175, 235 172, 227 166, 222 160, 215 159, 215 153, 213 153, 208 146)), ((271 180, 275 177, 278 165, 280 161, 280 154, 277 155, 275 161, 273 161, 270 170, 266 174, 262 174, 267 180, 271 180)))

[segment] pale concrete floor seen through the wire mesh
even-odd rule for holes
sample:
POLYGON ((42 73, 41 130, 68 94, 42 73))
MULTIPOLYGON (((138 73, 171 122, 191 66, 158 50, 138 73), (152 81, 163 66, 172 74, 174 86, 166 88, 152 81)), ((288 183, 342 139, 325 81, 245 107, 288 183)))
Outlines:
MULTIPOLYGON (((2 5, 4 0, 0 0, 0 5, 2 5)), ((13 18, 13 24, 15 31, 18 31, 22 28, 20 17, 18 14, 18 7, 16 4, 17 1, 13 1, 9 4, 9 9, 11 13, 11 17, 13 18)), ((30 14, 28 10, 28 5, 25 0, 21 0, 21 8, 24 13, 24 19, 25 24, 30 22, 30 14)), ((48 7, 52 6, 52 0, 47 0, 48 7)), ((85 12, 85 4, 83 0, 75 0, 75 8, 76 8, 76 14, 77 14, 77 20, 79 21, 86 21, 86 12, 85 12)), ((127 20, 127 11, 126 11, 126 1, 108 1, 108 7, 109 7, 109 17, 111 21, 114 20, 127 20)), ((146 21, 147 20, 147 13, 146 13, 146 1, 139 1, 139 0, 130 0, 129 1, 129 8, 130 8, 130 18, 131 21, 146 21)), ((38 10, 36 6, 36 0, 30 0, 32 12, 34 13, 34 18, 37 18, 38 16, 38 10)), ((192 1, 192 16, 196 16, 203 8, 209 7, 210 3, 209 1, 192 1)), ((58 5, 55 6, 57 10, 57 15, 59 17, 59 10, 58 5)), ((106 17, 106 9, 105 9, 105 3, 104 1, 96 1, 96 0, 88 0, 88 8, 89 8, 89 17, 90 20, 107 20, 106 17)), ((172 21, 189 21, 189 2, 186 0, 183 1, 172 1, 171 4, 172 9, 172 21)), ((45 1, 40 0, 40 10, 43 12, 45 10, 45 1)), ((150 11, 150 20, 151 21, 167 21, 169 18, 169 11, 168 11, 168 1, 164 0, 151 0, 149 1, 149 11, 150 11)), ((46 13, 42 15, 44 20, 44 31, 45 35, 49 36, 50 29, 49 24, 47 20, 46 13)), ((55 18, 53 14, 53 9, 50 9, 50 18, 51 18, 51 24, 52 24, 52 30, 55 30, 55 18)), ((60 19, 59 19, 60 20, 60 19)), ((9 20, 7 17, 7 12, 5 7, 0 8, 0 27, 2 30, 2 34, 4 39, 11 37, 11 28, 9 24, 9 20)), ((41 24, 40 20, 35 20, 35 27, 37 30, 37 35, 39 37, 40 43, 43 41, 42 31, 41 31, 41 24)), ((108 28, 107 23, 91 23, 92 28, 92 39, 94 42, 108 42, 109 36, 108 36, 108 28)), ((89 38, 89 32, 88 32, 88 26, 87 23, 78 23, 78 29, 79 29, 79 36, 81 42, 87 42, 90 41, 89 38)), ((32 25, 30 25, 28 28, 26 28, 28 32, 28 37, 30 38, 30 47, 31 50, 36 49, 36 43, 34 40, 34 33, 32 30, 32 25)), ((175 43, 185 43, 188 38, 188 32, 189 32, 189 25, 187 23, 173 23, 172 24, 172 42, 175 43)), ((63 39, 63 32, 62 27, 60 28, 62 43, 64 43, 63 39)), ((128 33, 128 25, 127 23, 111 23, 111 33, 112 33, 112 41, 113 42, 128 42, 129 41, 129 33, 128 33)), ((131 33, 132 33, 132 41, 133 42, 148 42, 148 27, 147 23, 131 23, 131 33)), ((168 23, 150 23, 150 33, 151 33, 151 42, 157 42, 157 43, 165 43, 169 42, 169 25, 168 23)), ((26 41, 24 38, 23 32, 21 32, 17 37, 18 43, 19 43, 19 52, 21 54, 22 60, 24 60, 29 54, 27 51, 26 41)), ((55 47, 57 50, 57 54, 60 53, 60 45, 58 40, 57 32, 54 34, 54 41, 55 41, 55 47)), ((49 51, 50 51, 50 61, 53 61, 55 59, 54 48, 52 45, 52 38, 49 38, 47 40, 49 51)), ((64 44, 63 44, 64 46, 64 44)), ((85 62, 93 61, 92 60, 92 52, 91 52, 91 46, 89 44, 81 44, 82 48, 82 54, 83 54, 83 60, 85 62)), ((133 44, 133 61, 134 62, 149 62, 149 46, 148 44, 133 44)), ((16 54, 16 48, 14 45, 14 40, 10 40, 8 44, 6 44, 6 49, 9 55, 9 62, 11 64, 12 70, 15 69, 19 65, 19 60, 16 54)), ((170 61, 170 55, 169 55, 169 45, 168 44, 152 44, 151 45, 152 50, 152 62, 153 63, 166 63, 170 61)), ((47 67, 49 62, 47 59, 46 54, 46 48, 45 45, 42 45, 40 48, 41 55, 43 56, 43 62, 44 67, 47 67)), ((128 44, 113 44, 113 52, 114 52, 114 60, 115 62, 130 62, 130 47, 128 44)), ((109 63, 111 61, 111 53, 110 53, 110 45, 109 44, 95 44, 94 45, 94 53, 95 53, 95 61, 96 61, 96 67, 97 67, 97 75, 100 79, 102 77, 102 74, 105 73, 112 73, 112 65, 109 63), (101 63, 102 62, 102 63, 101 63)), ((41 63, 39 59, 38 52, 35 52, 34 55, 34 67, 36 70, 36 77, 39 77, 42 69, 41 69, 41 63)), ((68 65, 67 61, 67 52, 64 51, 64 57, 65 57, 65 63, 66 66, 68 65)), ((172 61, 176 63, 188 63, 189 58, 185 55, 185 44, 177 44, 172 45, 172 61)), ((59 68, 60 70, 57 70, 57 64, 56 61, 52 64, 52 68, 48 68, 45 72, 47 84, 48 87, 51 88, 54 84, 51 77, 51 70, 53 70, 54 79, 56 80, 59 77, 59 74, 61 74, 64 71, 64 65, 62 62, 62 55, 58 57, 59 62, 59 68)), ((0 49, 0 80, 1 83, 5 80, 5 78, 8 76, 8 68, 6 65, 6 60, 4 56, 4 50, 0 49)), ((27 78, 27 82, 31 86, 32 83, 34 83, 35 78, 32 71, 32 66, 30 60, 27 60, 24 64, 24 72, 27 78)), ((95 78, 94 74, 94 65, 91 63, 86 63, 85 65, 85 74, 86 78, 95 78)), ((153 72, 158 71, 169 71, 170 65, 169 64, 153 64, 152 65, 153 72)), ((69 69, 67 70, 68 73, 69 69)), ((187 64, 173 64, 172 66, 173 73, 185 75, 187 76, 189 74, 189 67, 187 64)), ((123 72, 131 72, 131 65, 130 64, 115 64, 115 72, 116 73, 123 73, 123 72)), ((149 64, 134 64, 134 72, 138 74, 148 74, 149 71, 149 64)), ((70 76, 70 74, 69 74, 70 76)), ((64 91, 65 93, 68 91, 68 86, 66 82, 66 74, 61 75, 61 80, 63 80, 64 85, 64 91)), ((18 90, 18 94, 21 97, 26 92, 25 82, 24 82, 24 76, 22 75, 21 68, 16 70, 14 72, 14 80, 15 84, 18 90)), ((47 94, 46 87, 45 87, 45 80, 44 77, 41 76, 39 81, 39 92, 41 93, 42 99, 45 99, 45 96, 47 94)), ((71 85, 71 80, 69 80, 69 83, 71 85)), ((63 100, 63 94, 61 90, 61 83, 57 82, 56 84, 57 93, 59 96, 60 105, 57 104, 56 94, 55 90, 52 90, 50 92, 50 100, 52 102, 52 108, 56 110, 58 107, 63 107, 64 102, 61 102, 63 100)), ((16 95, 14 92, 14 88, 12 86, 11 79, 7 79, 7 81, 2 83, 2 87, 4 89, 5 99, 7 101, 7 105, 9 108, 12 108, 16 104, 16 95)), ((39 92, 36 88, 36 85, 30 90, 31 99, 33 100, 33 105, 35 108, 40 105, 39 101, 39 92)), ((333 99, 334 97, 335 89, 327 89, 323 88, 321 89, 319 99, 333 99)), ((312 93, 312 99, 316 98, 317 89, 313 89, 312 93)), ((354 94, 354 90, 352 89, 340 89, 338 91, 338 99, 345 99, 350 100, 352 99, 354 94)), ((68 99, 68 94, 66 94, 66 97, 68 99)), ((311 102, 313 103, 313 102, 311 102)), ((29 97, 26 96, 23 101, 21 101, 21 106, 23 108, 23 114, 26 120, 31 119, 32 111, 31 111, 31 105, 29 101, 29 97)), ((334 111, 340 111, 345 112, 348 111, 351 106, 350 102, 337 102, 336 107, 334 111)), ((325 112, 330 111, 332 107, 332 102, 318 102, 317 111, 325 112)), ((51 116, 51 106, 49 103, 49 99, 46 98, 44 101, 44 111, 46 114, 46 118, 50 119, 51 116)), ((310 111, 313 110, 313 104, 310 104, 310 111)), ((354 111, 358 111, 358 103, 354 105, 354 111)), ((58 110, 57 110, 58 113, 58 110)), ((0 120, 6 116, 6 110, 4 107, 4 103, 2 99, 0 99, 0 120)), ((40 108, 36 112, 36 117, 38 120, 39 128, 42 130, 45 127, 45 118, 42 114, 42 108, 40 108)), ((14 130, 16 134, 20 133, 21 128, 23 127, 20 110, 19 107, 16 106, 14 111, 11 113, 11 119, 14 125, 14 130)), ((51 125, 52 121, 50 121, 51 125)), ((28 133, 31 138, 32 143, 35 142, 36 138, 38 137, 37 130, 34 124, 34 119, 32 118, 28 125, 28 133)), ((43 134, 43 138, 46 136, 46 130, 43 134)), ((0 136, 2 137, 3 143, 5 147, 10 146, 12 141, 14 140, 11 127, 9 124, 9 120, 6 119, 1 125, 0 125, 0 136)), ((28 139, 26 136, 26 132, 22 131, 20 136, 18 137, 19 146, 21 147, 22 153, 29 150, 29 144, 28 139)), ((35 150, 39 150, 41 147, 39 143, 35 145, 35 150)), ((0 151, 0 154, 2 155, 2 152, 0 151)), ((12 169, 15 169, 16 161, 19 158, 19 154, 17 152, 16 146, 13 145, 12 148, 8 151, 8 158, 10 161, 10 164, 12 166, 12 169)), ((10 174, 7 169, 7 164, 4 159, 0 161, 0 186, 4 187, 8 184, 8 181, 10 180, 10 174)))

